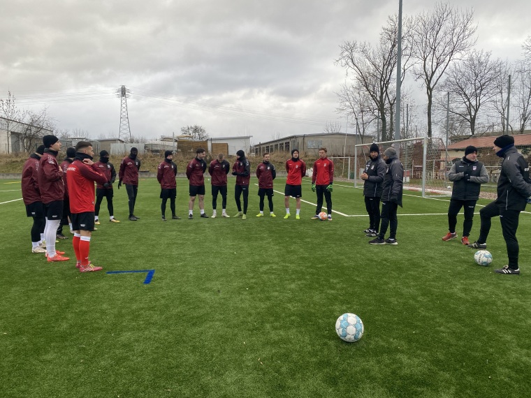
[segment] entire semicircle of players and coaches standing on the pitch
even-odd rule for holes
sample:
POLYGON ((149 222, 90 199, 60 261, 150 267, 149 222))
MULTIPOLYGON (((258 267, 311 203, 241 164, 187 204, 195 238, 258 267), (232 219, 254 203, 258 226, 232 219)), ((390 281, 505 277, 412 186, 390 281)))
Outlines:
MULTIPOLYGON (((113 215, 112 184, 116 179, 115 168, 109 162, 109 154, 100 152, 100 159, 92 161, 94 150, 92 144, 80 141, 75 148, 68 148, 66 159, 61 165, 57 162, 57 155, 61 149, 61 142, 54 135, 45 135, 43 145, 24 163, 22 171, 22 198, 26 205, 27 216, 34 220, 31 227, 31 245, 33 253, 45 253, 48 262, 66 261, 64 252, 55 249, 56 237, 61 237, 61 220, 68 223, 73 233, 73 249, 76 267, 80 272, 94 272, 102 268, 92 265, 89 261, 89 247, 92 231, 99 225, 99 208, 103 198, 107 199, 110 222, 119 223, 113 215), (96 182, 96 194, 94 193, 96 182)), ((448 211, 449 233, 442 238, 449 241, 457 237, 457 215, 462 207, 465 208, 463 223, 463 237, 461 242, 472 249, 486 249, 486 239, 490 231, 491 219, 500 216, 502 231, 507 244, 509 264, 495 270, 500 274, 520 274, 518 267, 518 240, 516 230, 520 212, 525 209, 528 198, 531 197, 531 179, 529 165, 514 147, 514 138, 502 135, 495 139, 493 149, 500 156, 502 168, 497 184, 497 199, 480 211, 481 228, 476 242, 470 244, 468 237, 472 230, 474 208, 479 199, 481 184, 488 182, 485 166, 477 160, 477 149, 469 146, 465 149, 463 159, 453 164, 449 179, 453 181, 453 191, 448 211)), ((120 163, 118 189, 125 184, 129 199, 129 220, 137 221, 140 217, 134 214, 136 196, 138 194, 138 172, 140 160, 137 159, 138 149, 131 148, 129 156, 120 163)), ((208 218, 205 214, 205 178, 208 168, 212 186, 212 218, 217 217, 217 196, 221 194, 221 216, 229 217, 226 213, 227 175, 229 163, 224 154, 207 165, 205 149, 196 150, 196 157, 187 165, 186 175, 189 179, 188 218, 193 219, 194 203, 198 197, 198 207, 201 218, 208 218)), ((250 163, 242 150, 236 153, 236 161, 232 167, 235 176, 235 202, 242 219, 247 218, 249 202, 249 182, 251 178, 250 163), (243 206, 240 198, 243 197, 243 206)), ((289 198, 296 198, 296 219, 300 219, 300 200, 302 194, 302 178, 306 175, 305 162, 299 159, 297 149, 291 151, 291 159, 286 161, 286 185, 284 188, 284 204, 286 215, 291 216, 289 198)), ((319 149, 319 159, 314 162, 312 172, 312 191, 317 193, 317 207, 312 219, 320 219, 319 213, 326 201, 327 219, 332 221, 333 191, 333 161, 327 158, 326 148, 319 149)), ((177 196, 177 165, 173 162, 173 152, 166 151, 164 161, 159 164, 157 180, 161 185, 161 217, 166 221, 166 202, 170 199, 172 219, 180 219, 175 213, 175 198, 177 196)), ((270 154, 263 154, 263 161, 256 168, 259 180, 258 195, 260 198, 260 212, 262 217, 264 199, 267 196, 270 216, 273 212, 272 196, 273 180, 276 177, 275 165, 270 163, 270 154)), ((404 169, 393 147, 379 153, 376 144, 370 146, 370 159, 361 174, 364 180, 363 195, 365 208, 369 215, 369 228, 363 231, 366 236, 374 237, 370 244, 397 245, 396 233, 398 229, 398 206, 402 207, 404 169), (381 211, 380 211, 381 202, 381 211), (385 239, 388 227, 390 235, 385 239)))

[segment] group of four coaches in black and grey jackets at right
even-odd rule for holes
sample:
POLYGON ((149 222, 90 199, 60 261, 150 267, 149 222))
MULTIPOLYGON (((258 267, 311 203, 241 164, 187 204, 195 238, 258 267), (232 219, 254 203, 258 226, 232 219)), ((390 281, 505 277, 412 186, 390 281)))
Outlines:
MULTIPOLYGON (((507 246, 509 264, 495 269, 498 274, 519 275, 518 266, 518 219, 531 202, 531 179, 528 162, 514 147, 511 135, 501 135, 493 142, 493 150, 502 158, 500 177, 497 182, 497 199, 479 211, 481 226, 477 241, 470 243, 468 237, 472 230, 474 209, 479 199, 481 184, 488 182, 488 173, 483 163, 477 160, 477 148, 468 146, 463 159, 453 163, 449 171, 449 180, 453 182, 452 195, 448 209, 449 232, 442 237, 448 242, 458 237, 456 233, 457 215, 464 208, 463 237, 461 243, 470 249, 486 249, 491 219, 500 217, 502 233, 507 246)), ((376 144, 370 146, 370 159, 365 165, 361 179, 365 181, 363 195, 365 208, 369 214, 370 226, 363 231, 365 236, 375 237, 370 244, 398 244, 397 209, 402 206, 402 181, 404 170, 393 148, 384 152, 383 159, 376 144), (380 212, 381 201, 381 212, 380 212), (381 225, 380 225, 381 219, 381 225), (388 223, 391 223, 391 235, 384 239, 388 223)))

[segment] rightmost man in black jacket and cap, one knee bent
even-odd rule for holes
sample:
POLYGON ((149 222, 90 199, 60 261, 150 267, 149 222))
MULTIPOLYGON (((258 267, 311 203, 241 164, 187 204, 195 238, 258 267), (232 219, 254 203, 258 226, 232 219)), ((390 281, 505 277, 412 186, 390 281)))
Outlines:
POLYGON ((481 219, 479 238, 469 247, 471 249, 486 249, 490 219, 500 216, 509 264, 494 270, 494 272, 519 275, 518 252, 520 246, 518 246, 518 239, 516 239, 516 230, 518 229, 520 212, 525 210, 531 196, 529 165, 514 147, 514 138, 511 135, 501 135, 496 138, 493 149, 497 156, 503 159, 500 179, 497 183, 497 199, 479 210, 481 219))

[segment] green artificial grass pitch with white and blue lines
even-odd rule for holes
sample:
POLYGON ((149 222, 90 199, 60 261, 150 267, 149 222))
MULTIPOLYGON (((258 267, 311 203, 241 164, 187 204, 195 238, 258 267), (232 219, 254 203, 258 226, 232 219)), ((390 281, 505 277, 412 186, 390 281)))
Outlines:
MULTIPOLYGON (((228 214, 236 213, 229 179, 228 214)), ((0 180, 0 378, 2 397, 525 397, 531 395, 531 214, 521 214, 520 276, 493 220, 490 267, 459 239, 443 242, 449 202, 405 191, 398 246, 372 246, 361 189, 336 182, 333 221, 160 217, 159 184, 140 181, 136 222, 125 189, 115 216, 92 235, 90 258, 49 264, 31 253, 20 182, 0 180), (108 271, 155 270, 146 274, 108 271), (358 314, 348 344, 335 320, 358 314)), ((303 200, 315 203, 310 182, 303 200)), ((480 200, 479 205, 488 201, 480 200)), ((218 199, 219 209, 221 198, 218 199)), ((212 215, 210 186, 205 196, 212 215)), ((480 207, 477 207, 479 211, 480 207)), ((220 210, 218 210, 221 213, 220 210)), ((218 213, 218 214, 219 214, 218 213)), ((170 213, 169 204, 166 217, 170 213)), ((458 235, 463 215, 458 217, 458 235)), ((68 230, 66 231, 68 232, 68 230)), ((471 240, 479 233, 474 217, 471 240)), ((71 235, 66 234, 69 237, 71 235)), ((71 239, 57 244, 73 256, 71 239)))

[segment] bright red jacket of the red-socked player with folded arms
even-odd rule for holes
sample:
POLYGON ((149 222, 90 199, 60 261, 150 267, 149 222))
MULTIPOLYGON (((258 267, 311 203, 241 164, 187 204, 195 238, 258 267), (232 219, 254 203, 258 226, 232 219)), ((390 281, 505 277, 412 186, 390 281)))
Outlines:
POLYGON ((107 177, 96 166, 86 165, 80 159, 75 159, 68 166, 66 175, 68 193, 70 194, 70 212, 94 212, 94 182, 105 184, 107 177))

